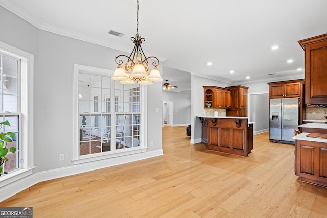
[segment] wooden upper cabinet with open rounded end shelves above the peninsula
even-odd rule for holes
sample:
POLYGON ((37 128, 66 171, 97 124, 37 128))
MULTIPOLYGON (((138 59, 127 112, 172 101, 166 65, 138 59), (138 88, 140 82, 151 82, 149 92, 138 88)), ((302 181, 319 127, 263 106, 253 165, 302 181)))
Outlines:
POLYGON ((204 108, 228 109, 231 107, 231 92, 229 89, 216 86, 203 86, 204 108))

